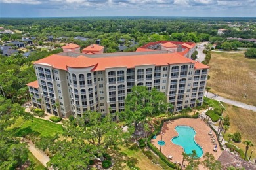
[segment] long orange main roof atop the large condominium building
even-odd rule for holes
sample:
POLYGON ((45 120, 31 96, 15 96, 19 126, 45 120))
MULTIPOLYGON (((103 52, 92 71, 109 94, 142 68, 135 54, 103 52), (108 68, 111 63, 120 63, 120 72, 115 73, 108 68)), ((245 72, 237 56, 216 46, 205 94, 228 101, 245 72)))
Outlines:
POLYGON ((78 56, 72 58, 68 56, 60 56, 53 54, 47 58, 35 61, 34 64, 49 65, 56 69, 67 70, 68 67, 81 68, 91 67, 95 65, 93 71, 103 71, 106 68, 112 67, 127 67, 134 68, 139 65, 169 65, 179 63, 196 63, 195 69, 208 69, 209 66, 197 63, 191 59, 188 59, 181 54, 177 53, 163 53, 163 54, 142 54, 131 56, 109 56, 93 58, 87 56, 78 56))

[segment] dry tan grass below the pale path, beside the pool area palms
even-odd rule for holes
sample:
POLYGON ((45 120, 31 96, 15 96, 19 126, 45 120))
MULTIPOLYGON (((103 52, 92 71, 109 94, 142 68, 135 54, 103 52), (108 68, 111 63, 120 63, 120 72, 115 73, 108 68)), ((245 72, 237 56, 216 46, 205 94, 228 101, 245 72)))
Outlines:
MULTIPOLYGON (((249 156, 251 150, 256 150, 256 112, 227 104, 224 104, 224 107, 226 107, 226 111, 223 112, 223 116, 230 116, 230 128, 226 131, 224 139, 228 141, 228 133, 235 133, 236 131, 240 132, 242 141, 250 140, 254 144, 254 147, 249 148, 247 153, 247 156, 249 156)), ((245 152, 245 145, 242 142, 231 143, 235 144, 245 152)), ((255 152, 253 152, 252 158, 256 158, 255 152)))

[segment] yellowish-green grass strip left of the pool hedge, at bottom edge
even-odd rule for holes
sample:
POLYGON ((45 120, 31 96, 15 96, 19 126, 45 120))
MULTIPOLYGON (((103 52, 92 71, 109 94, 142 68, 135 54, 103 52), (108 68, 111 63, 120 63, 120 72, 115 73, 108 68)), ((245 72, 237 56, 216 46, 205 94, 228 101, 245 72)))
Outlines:
POLYGON ((127 154, 127 156, 137 158, 137 160, 139 160, 139 163, 137 163, 136 166, 139 167, 140 169, 142 170, 150 170, 150 169, 160 170, 161 169, 161 167, 158 167, 157 165, 152 163, 150 159, 144 156, 140 150, 137 150, 137 151, 129 150, 129 148, 125 148, 123 146, 120 148, 122 152, 127 154))

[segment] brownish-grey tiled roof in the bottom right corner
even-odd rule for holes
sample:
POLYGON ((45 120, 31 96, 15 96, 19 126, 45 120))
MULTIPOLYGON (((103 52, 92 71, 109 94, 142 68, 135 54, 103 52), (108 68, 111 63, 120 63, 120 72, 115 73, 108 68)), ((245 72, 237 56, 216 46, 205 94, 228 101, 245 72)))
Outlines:
POLYGON ((236 156, 226 150, 224 150, 221 156, 219 156, 218 161, 221 162, 222 169, 228 169, 228 167, 236 167, 236 168, 244 167, 245 169, 248 169, 248 170, 256 169, 253 163, 250 163, 249 161, 245 161, 239 156, 236 156))

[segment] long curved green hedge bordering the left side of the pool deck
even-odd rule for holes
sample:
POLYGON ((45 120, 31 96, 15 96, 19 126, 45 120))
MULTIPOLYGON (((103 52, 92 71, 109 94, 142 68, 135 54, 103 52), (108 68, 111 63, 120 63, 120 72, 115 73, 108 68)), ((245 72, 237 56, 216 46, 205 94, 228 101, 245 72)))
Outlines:
POLYGON ((169 161, 168 158, 167 158, 164 154, 162 154, 162 153, 160 152, 160 150, 158 150, 158 148, 156 148, 156 146, 154 146, 154 144, 152 144, 152 143, 150 142, 150 139, 152 139, 152 137, 153 137, 154 135, 158 135, 158 134, 160 133, 161 128, 163 127, 163 123, 164 123, 164 122, 167 122, 167 121, 169 121, 169 120, 176 120, 176 119, 179 119, 179 118, 198 118, 198 115, 199 115, 199 114, 198 114, 198 112, 197 112, 196 114, 194 114, 194 115, 192 115, 192 116, 190 116, 190 115, 188 115, 188 114, 178 114, 178 115, 172 116, 172 117, 170 117, 170 118, 165 118, 165 119, 161 120, 160 126, 156 127, 154 133, 153 133, 152 135, 150 135, 150 137, 148 138, 148 141, 147 141, 148 147, 149 147, 151 150, 153 150, 153 152, 154 152, 156 155, 158 155, 159 158, 160 158, 162 161, 164 161, 169 167, 171 167, 171 168, 173 168, 173 169, 177 169, 177 165, 176 165, 175 163, 172 163, 171 161, 169 161))

